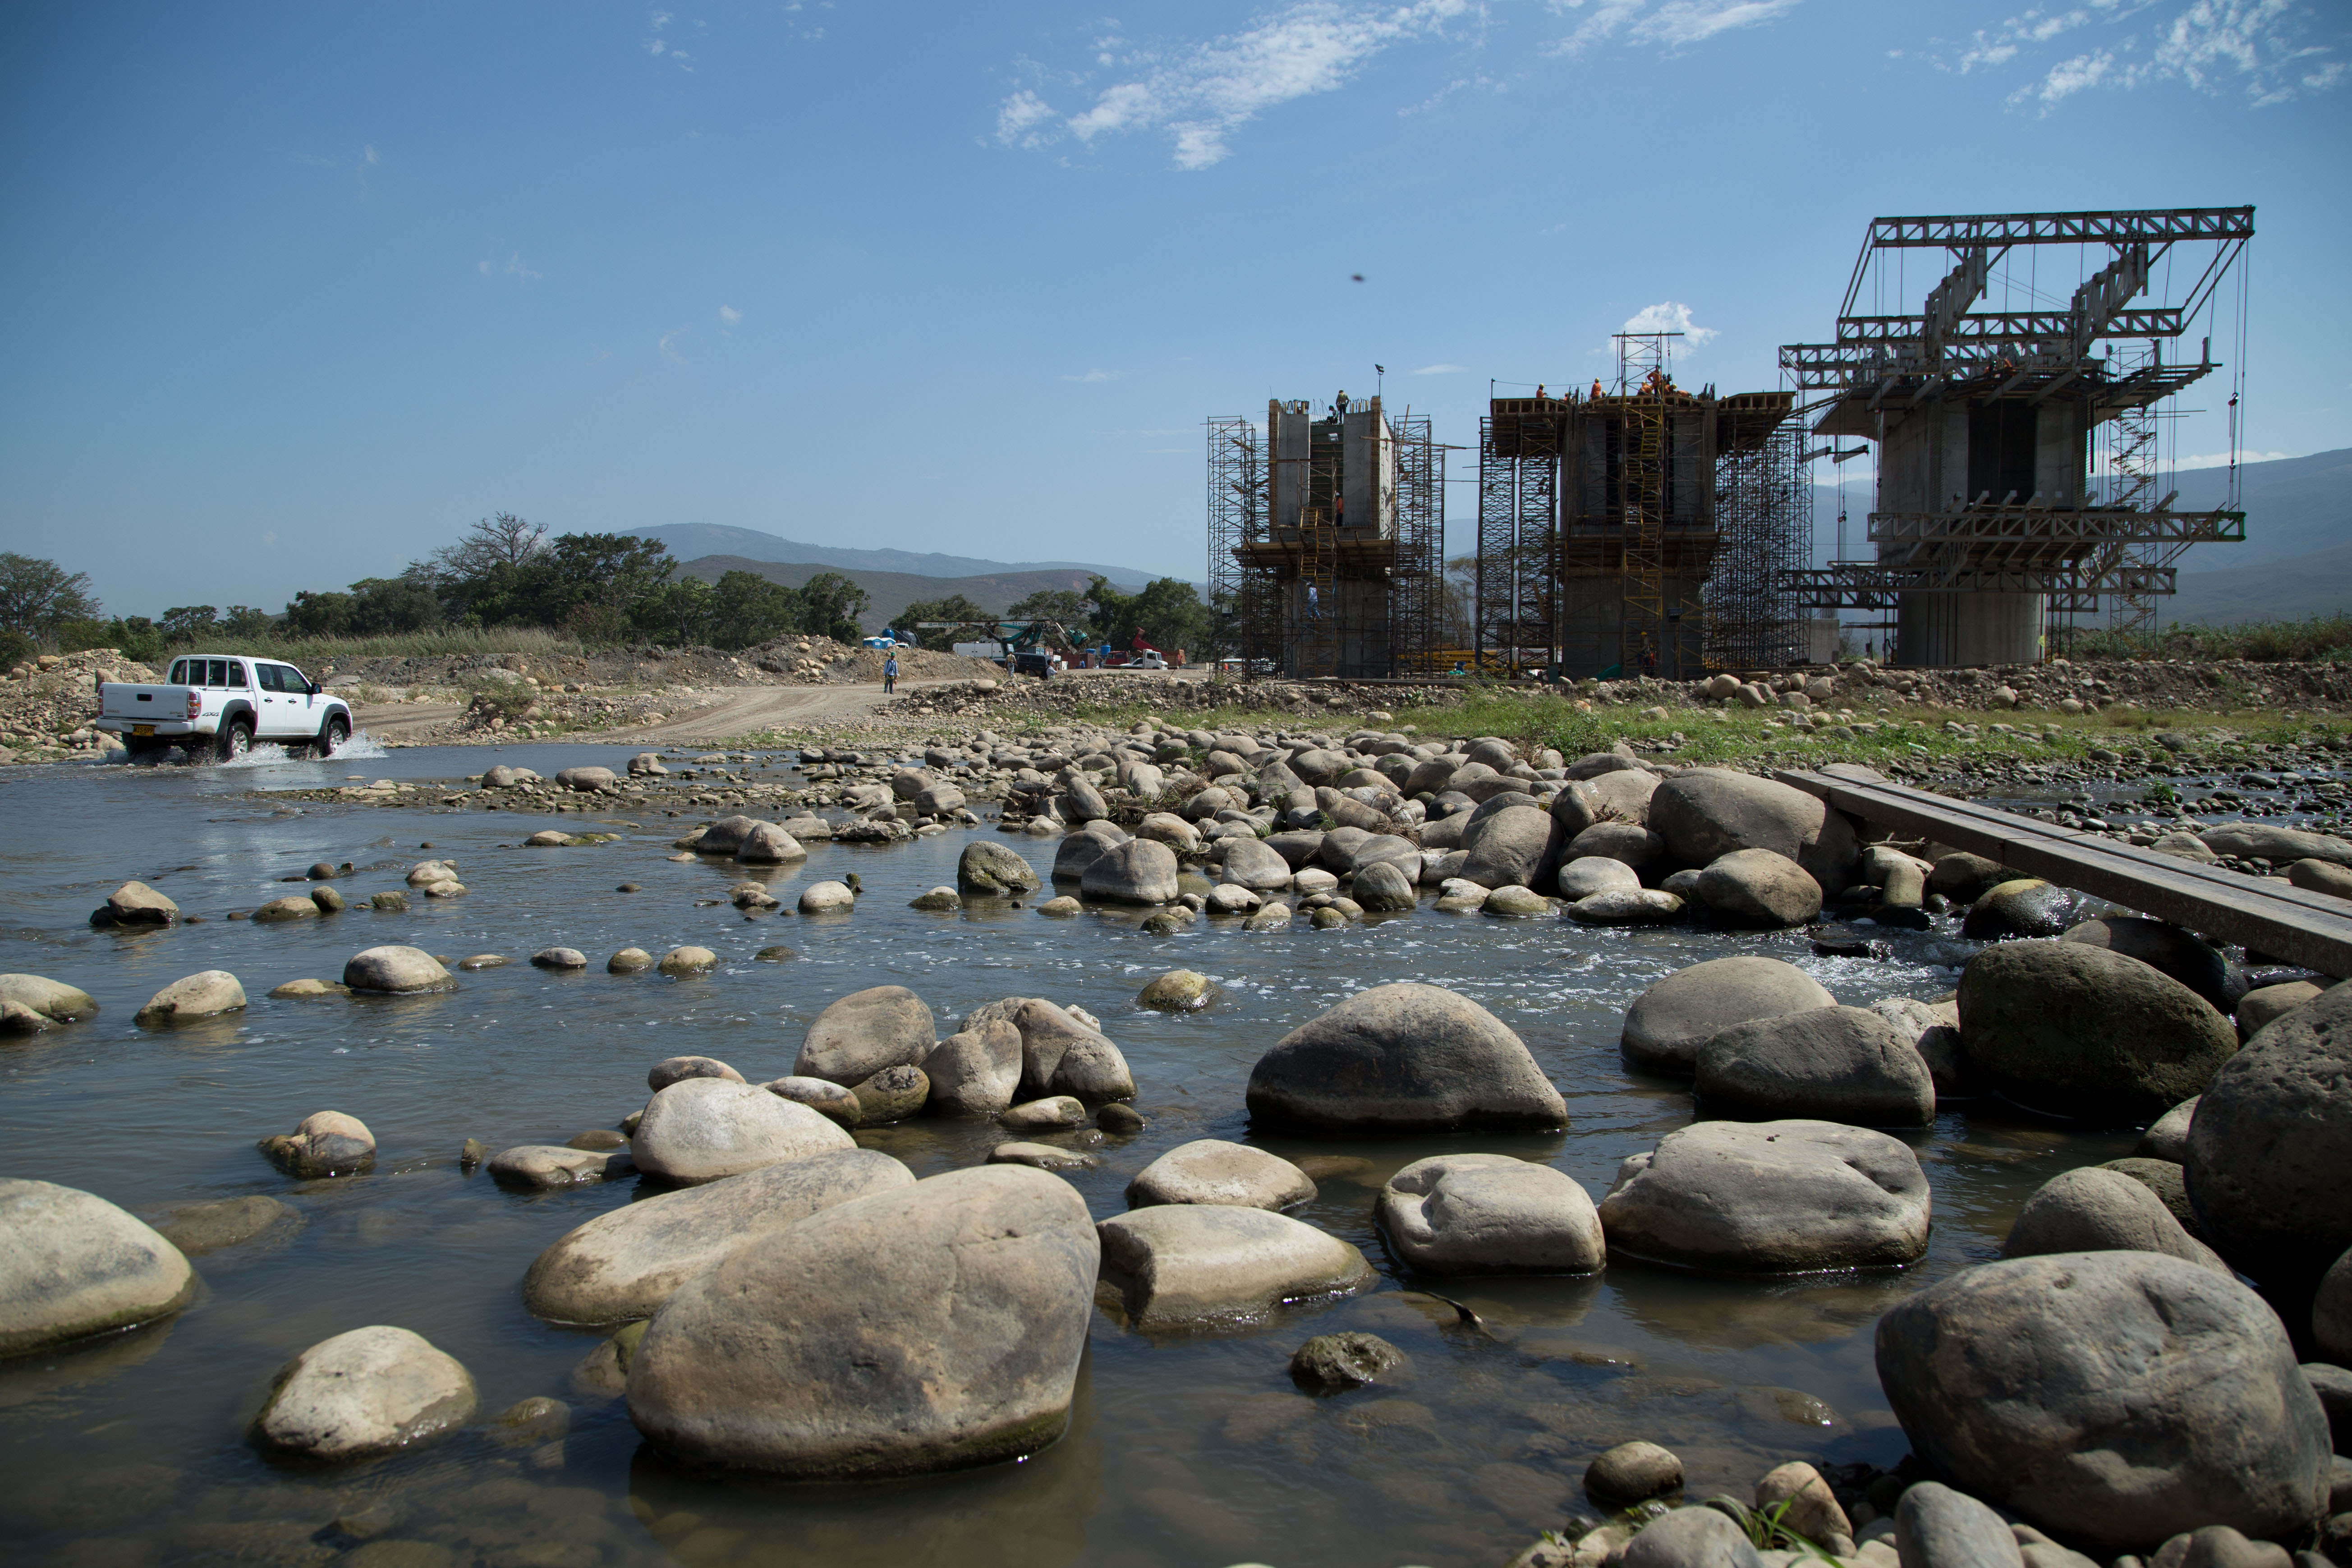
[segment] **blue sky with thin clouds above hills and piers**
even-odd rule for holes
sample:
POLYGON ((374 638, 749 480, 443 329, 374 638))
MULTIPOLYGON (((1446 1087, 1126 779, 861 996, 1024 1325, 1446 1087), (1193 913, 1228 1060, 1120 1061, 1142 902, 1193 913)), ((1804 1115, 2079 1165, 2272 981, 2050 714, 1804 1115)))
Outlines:
MULTIPOLYGON (((1877 214, 2251 202, 2241 444, 2352 447, 2338 0, 68 2, 0 38, 0 550, 111 614, 278 609, 499 510, 1200 581, 1202 421, 1336 390, 1465 447, 1463 550, 1491 388, 1609 376, 1628 324, 1773 388, 1877 214)), ((2230 449, 2201 393, 2185 461, 2230 449)))

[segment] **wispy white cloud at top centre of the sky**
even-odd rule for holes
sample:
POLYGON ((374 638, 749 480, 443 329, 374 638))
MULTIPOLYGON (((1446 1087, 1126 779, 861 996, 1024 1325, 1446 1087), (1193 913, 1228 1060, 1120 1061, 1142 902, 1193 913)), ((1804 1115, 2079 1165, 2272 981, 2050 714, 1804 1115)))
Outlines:
POLYGON ((1470 14, 1470 0, 1409 0, 1367 7, 1341 0, 1294 0, 1242 33, 1174 52, 1127 49, 1120 38, 1096 40, 1101 68, 1136 75, 1094 94, 1080 113, 1061 115, 1021 89, 997 106, 997 141, 1044 146, 1070 136, 1164 132, 1178 169, 1207 169, 1230 153, 1230 136, 1270 108, 1345 87, 1383 49, 1444 33, 1470 14))

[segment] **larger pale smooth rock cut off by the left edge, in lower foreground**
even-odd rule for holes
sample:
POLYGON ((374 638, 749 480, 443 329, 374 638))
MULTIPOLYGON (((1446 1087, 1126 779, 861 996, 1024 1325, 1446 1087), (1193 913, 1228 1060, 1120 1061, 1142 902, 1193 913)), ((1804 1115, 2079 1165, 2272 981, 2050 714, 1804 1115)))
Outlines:
POLYGON ((0 1356, 151 1324, 193 1295, 181 1251, 106 1199, 0 1178, 0 1356))

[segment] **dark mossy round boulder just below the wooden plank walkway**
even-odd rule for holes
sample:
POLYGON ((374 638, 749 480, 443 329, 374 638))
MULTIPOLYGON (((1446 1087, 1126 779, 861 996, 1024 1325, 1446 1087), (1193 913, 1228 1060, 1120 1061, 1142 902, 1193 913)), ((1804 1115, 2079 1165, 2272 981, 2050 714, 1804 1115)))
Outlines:
POLYGON ((1959 1044, 2004 1098, 2110 1126, 2187 1100, 2237 1053, 2204 997, 2086 943, 1999 943, 1959 976, 1959 1044))

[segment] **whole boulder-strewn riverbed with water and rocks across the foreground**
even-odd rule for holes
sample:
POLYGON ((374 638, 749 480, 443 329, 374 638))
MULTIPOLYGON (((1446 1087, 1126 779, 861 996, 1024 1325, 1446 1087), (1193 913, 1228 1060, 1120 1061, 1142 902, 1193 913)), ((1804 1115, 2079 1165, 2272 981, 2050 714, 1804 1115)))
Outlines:
MULTIPOLYGON (((12 1537, 2340 1561, 2328 976, 1383 717, 0 776, 12 1537)), ((2232 745, 2034 804, 2333 891, 2232 745)))

